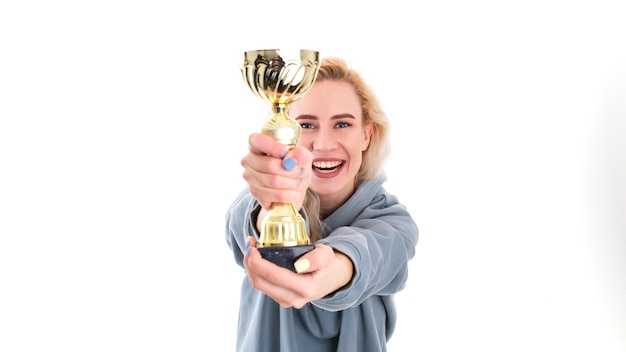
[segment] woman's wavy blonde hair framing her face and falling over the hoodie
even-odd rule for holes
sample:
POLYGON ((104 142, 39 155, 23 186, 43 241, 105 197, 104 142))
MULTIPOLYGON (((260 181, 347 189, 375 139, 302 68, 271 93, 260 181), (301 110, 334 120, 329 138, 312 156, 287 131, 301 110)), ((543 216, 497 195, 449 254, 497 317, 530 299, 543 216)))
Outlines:
MULTIPOLYGON (((362 125, 372 125, 372 136, 366 150, 363 151, 361 167, 356 175, 357 183, 372 179, 383 171, 384 163, 389 155, 389 120, 382 110, 374 91, 365 83, 361 75, 353 70, 348 63, 340 58, 322 59, 316 82, 341 81, 349 83, 356 91, 361 103, 363 116, 362 125)), ((323 237, 322 219, 319 214, 319 197, 311 189, 307 191, 304 208, 309 216, 311 233, 309 237, 315 242, 323 237)))

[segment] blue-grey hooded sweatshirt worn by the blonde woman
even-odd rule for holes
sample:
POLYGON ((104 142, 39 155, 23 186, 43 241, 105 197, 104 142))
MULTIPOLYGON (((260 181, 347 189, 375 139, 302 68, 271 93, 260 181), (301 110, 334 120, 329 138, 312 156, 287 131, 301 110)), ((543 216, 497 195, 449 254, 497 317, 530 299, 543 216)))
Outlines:
MULTIPOLYGON (((360 182, 352 197, 324 219, 325 235, 317 243, 352 260, 354 275, 347 286, 301 309, 283 308, 244 277, 237 351, 387 350, 396 323, 393 295, 406 284, 418 229, 407 209, 382 187, 385 180, 383 175, 360 182)), ((226 242, 242 267, 246 237, 258 238, 259 210, 246 189, 226 215, 226 242)))

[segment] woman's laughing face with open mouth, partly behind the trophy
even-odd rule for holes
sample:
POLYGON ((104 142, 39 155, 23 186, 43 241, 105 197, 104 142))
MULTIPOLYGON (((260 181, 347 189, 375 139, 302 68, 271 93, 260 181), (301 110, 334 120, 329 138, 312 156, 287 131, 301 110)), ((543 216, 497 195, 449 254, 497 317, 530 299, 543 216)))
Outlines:
POLYGON ((313 153, 311 189, 322 210, 337 209, 354 193, 362 152, 372 126, 363 126, 361 104, 354 88, 343 81, 316 82, 289 109, 300 126, 300 145, 313 153))

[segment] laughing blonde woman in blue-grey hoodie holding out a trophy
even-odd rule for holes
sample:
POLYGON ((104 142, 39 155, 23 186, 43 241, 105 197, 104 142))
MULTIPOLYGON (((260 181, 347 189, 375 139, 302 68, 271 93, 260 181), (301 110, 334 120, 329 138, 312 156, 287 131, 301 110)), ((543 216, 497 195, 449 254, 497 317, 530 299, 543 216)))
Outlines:
POLYGON ((226 216, 226 240, 245 270, 237 350, 386 351, 394 294, 408 278, 417 226, 383 183, 388 121, 372 90, 345 61, 326 58, 311 89, 290 106, 302 127, 287 150, 253 133, 241 160, 248 187, 226 216), (307 219, 315 249, 297 272, 256 248, 273 202, 307 219))

